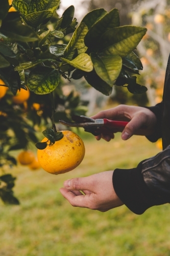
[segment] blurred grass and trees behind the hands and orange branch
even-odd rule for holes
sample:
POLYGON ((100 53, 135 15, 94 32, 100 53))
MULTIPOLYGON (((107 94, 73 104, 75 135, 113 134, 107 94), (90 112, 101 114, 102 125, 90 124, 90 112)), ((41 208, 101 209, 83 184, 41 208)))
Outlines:
MULTIPOLYGON (((136 49, 143 64, 143 71, 137 79, 147 86, 148 91, 133 95, 122 87, 115 87, 111 96, 104 96, 82 79, 71 80, 71 83, 63 80, 63 94, 68 96, 71 91, 78 91, 78 96, 86 102, 88 116, 118 104, 144 106, 161 102, 170 51, 170 1, 61 0, 58 15, 61 16, 70 5, 75 6, 75 17, 79 22, 90 10, 105 8, 109 11, 116 7, 121 25, 148 28, 136 49)), ((34 108, 36 110, 39 106, 34 105, 34 108)), ((9 206, 0 202, 0 255, 169 256, 168 204, 152 207, 142 216, 133 214, 125 206, 101 213, 74 208, 59 193, 66 179, 114 168, 136 167, 141 160, 161 151, 161 141, 150 143, 142 136, 122 141, 120 134, 116 134, 115 139, 108 143, 96 141, 83 130, 75 132, 83 139, 86 154, 81 165, 72 172, 54 176, 42 169, 21 165, 11 170, 17 177, 14 191, 20 205, 9 206)), ((32 151, 36 155, 33 146, 32 151)), ((18 153, 15 151, 13 155, 17 157, 18 153)))

